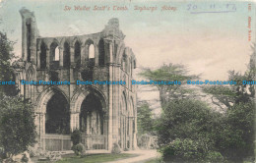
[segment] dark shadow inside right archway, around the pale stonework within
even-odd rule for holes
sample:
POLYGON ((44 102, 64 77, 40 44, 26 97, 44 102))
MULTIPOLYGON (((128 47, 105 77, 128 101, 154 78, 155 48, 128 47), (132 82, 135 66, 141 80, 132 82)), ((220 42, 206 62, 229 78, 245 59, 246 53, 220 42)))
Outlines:
MULTIPOLYGON (((95 112, 97 116, 99 116, 98 119, 95 120, 96 124, 99 124, 99 127, 100 127, 100 129, 98 129, 99 130, 98 134, 103 135, 102 106, 101 106, 100 100, 94 94, 89 94, 82 103, 81 113, 80 113, 80 130, 84 133, 87 133, 87 126, 90 125, 90 124, 87 124, 88 122, 87 118, 90 117, 89 121, 92 121, 93 112, 95 112)), ((94 132, 92 134, 94 135, 94 132)))

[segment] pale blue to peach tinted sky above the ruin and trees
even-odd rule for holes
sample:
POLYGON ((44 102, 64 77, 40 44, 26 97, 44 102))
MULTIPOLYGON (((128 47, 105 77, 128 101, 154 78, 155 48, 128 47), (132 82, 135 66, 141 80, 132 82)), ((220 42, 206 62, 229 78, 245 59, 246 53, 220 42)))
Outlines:
POLYGON ((252 40, 255 40, 255 9, 252 7, 248 12, 248 2, 2 0, 0 29, 4 29, 12 40, 17 40, 17 55, 21 55, 22 21, 19 10, 22 7, 34 12, 42 36, 98 32, 109 19, 118 18, 126 35, 126 45, 133 49, 139 67, 156 68, 170 62, 184 64, 190 73, 202 73, 202 78, 207 80, 226 80, 228 70, 245 71, 253 42, 248 41, 248 16, 252 17, 252 40), (116 5, 126 6, 129 10, 64 11, 65 6, 74 8, 78 5, 91 8, 95 5, 116 5), (175 12, 161 12, 163 5, 177 9, 175 12), (135 11, 134 6, 157 6, 158 11, 135 11), (189 7, 192 9, 188 10, 189 7), (229 13, 191 14, 234 10, 229 13))

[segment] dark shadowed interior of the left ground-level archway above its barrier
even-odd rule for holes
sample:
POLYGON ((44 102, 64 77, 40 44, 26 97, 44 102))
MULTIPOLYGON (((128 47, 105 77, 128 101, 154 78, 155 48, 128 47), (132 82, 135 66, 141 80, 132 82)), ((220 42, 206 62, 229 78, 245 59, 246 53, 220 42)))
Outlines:
POLYGON ((59 92, 56 92, 47 103, 45 133, 70 134, 69 104, 65 96, 59 92))

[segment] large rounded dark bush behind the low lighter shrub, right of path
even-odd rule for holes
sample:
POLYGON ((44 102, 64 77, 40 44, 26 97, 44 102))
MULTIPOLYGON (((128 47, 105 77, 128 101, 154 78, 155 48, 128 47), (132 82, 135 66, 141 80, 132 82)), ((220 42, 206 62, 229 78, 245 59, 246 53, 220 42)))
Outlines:
POLYGON ((159 144, 164 146, 175 138, 210 140, 213 138, 210 132, 221 116, 220 113, 211 111, 202 101, 173 100, 163 108, 160 116, 157 126, 159 144))

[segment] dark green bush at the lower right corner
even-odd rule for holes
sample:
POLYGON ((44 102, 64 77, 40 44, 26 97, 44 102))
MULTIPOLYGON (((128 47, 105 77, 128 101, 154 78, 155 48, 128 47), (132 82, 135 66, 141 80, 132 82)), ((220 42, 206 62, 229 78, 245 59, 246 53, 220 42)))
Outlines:
POLYGON ((230 107, 222 121, 217 148, 231 160, 252 156, 254 149, 254 102, 240 102, 230 107))

